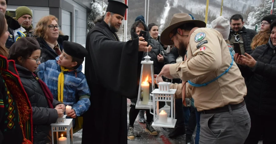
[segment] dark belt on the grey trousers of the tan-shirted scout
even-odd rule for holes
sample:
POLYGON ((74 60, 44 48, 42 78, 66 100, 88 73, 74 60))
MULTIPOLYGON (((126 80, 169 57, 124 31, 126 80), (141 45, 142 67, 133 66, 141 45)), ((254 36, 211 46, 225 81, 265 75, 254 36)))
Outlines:
POLYGON ((243 100, 243 102, 241 102, 240 104, 228 104, 228 105, 225 105, 224 107, 209 109, 209 110, 203 110, 201 112, 203 114, 229 112, 229 109, 230 109, 229 107, 231 107, 232 110, 235 110, 235 109, 243 107, 244 105, 245 105, 245 102, 243 100))

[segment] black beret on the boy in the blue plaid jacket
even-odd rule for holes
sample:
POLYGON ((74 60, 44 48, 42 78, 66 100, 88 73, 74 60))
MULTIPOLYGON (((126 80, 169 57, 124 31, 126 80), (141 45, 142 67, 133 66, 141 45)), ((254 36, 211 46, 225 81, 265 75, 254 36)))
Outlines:
POLYGON ((66 54, 79 59, 83 59, 88 55, 88 52, 82 45, 66 40, 63 41, 63 51, 66 54))

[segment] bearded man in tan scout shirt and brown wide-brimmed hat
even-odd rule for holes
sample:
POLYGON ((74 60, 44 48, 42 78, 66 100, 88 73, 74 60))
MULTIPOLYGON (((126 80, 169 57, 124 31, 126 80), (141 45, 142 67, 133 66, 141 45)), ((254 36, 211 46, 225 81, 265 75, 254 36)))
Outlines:
POLYGON ((199 143, 240 144, 251 127, 243 100, 247 89, 222 35, 205 26, 186 13, 174 14, 160 39, 177 47, 179 55, 184 56, 184 51, 187 54, 184 62, 165 65, 159 77, 182 79, 182 84, 171 87, 178 89, 176 97, 182 96, 184 105, 184 98, 192 97, 194 106, 202 112, 199 143))

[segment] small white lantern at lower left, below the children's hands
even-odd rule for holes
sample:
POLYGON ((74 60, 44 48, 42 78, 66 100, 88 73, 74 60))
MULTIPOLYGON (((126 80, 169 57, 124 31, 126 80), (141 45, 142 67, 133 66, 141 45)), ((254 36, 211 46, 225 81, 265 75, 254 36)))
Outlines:
POLYGON ((62 118, 58 118, 56 123, 51 124, 52 128, 52 144, 73 144, 73 119, 66 119, 67 115, 64 115, 62 118), (65 135, 59 135, 59 132, 66 132, 65 135), (56 134, 56 143, 54 139, 54 134, 56 134), (70 142, 71 135, 71 142, 70 142))

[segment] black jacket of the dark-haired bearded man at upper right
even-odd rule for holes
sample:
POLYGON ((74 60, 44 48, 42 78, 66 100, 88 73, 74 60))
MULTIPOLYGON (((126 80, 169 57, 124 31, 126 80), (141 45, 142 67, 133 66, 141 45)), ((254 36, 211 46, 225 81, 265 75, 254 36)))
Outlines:
MULTIPOLYGON (((235 33, 236 33, 235 31, 230 29, 230 34, 229 34, 228 40, 231 40, 231 37, 235 33)), ((247 29, 247 28, 243 27, 243 29, 241 30, 241 33, 242 33, 242 38, 243 38, 244 50, 246 53, 248 53, 250 55, 252 53, 252 49, 251 49, 250 45, 252 43, 253 37, 257 34, 257 32, 252 29, 247 29)))

